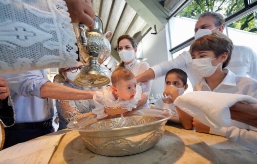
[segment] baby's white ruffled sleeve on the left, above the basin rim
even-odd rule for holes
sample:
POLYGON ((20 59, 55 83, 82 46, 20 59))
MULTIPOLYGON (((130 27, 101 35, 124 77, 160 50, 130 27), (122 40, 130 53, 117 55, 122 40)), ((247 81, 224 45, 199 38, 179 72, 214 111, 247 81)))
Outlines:
POLYGON ((105 113, 105 105, 103 103, 103 92, 102 91, 96 91, 93 96, 93 101, 95 108, 92 110, 92 112, 97 115, 97 119, 102 119, 104 117, 107 117, 108 115, 105 113))

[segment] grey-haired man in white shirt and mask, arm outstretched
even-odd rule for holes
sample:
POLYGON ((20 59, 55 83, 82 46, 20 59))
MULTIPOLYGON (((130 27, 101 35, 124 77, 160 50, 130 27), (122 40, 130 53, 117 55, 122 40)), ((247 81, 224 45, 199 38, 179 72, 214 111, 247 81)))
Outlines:
MULTIPOLYGON (((214 12, 201 14, 195 24, 195 39, 224 30, 224 19, 222 15, 214 12)), ((154 65, 148 71, 137 76, 137 82, 145 82, 164 76, 172 68, 180 68, 187 72, 192 85, 194 86, 201 78, 193 72, 192 58, 189 51, 184 51, 176 59, 169 62, 162 62, 154 65)), ((238 76, 246 76, 257 80, 257 54, 245 46, 234 45, 231 60, 226 67, 238 76)))

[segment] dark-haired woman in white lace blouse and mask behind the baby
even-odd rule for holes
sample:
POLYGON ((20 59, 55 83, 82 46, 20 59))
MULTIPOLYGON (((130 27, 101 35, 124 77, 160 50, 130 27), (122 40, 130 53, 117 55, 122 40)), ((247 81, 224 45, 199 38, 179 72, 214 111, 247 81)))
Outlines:
MULTIPOLYGON (((118 38, 117 51, 121 58, 123 66, 129 69, 135 76, 147 71, 150 66, 147 62, 137 62, 135 53, 137 52, 136 40, 129 35, 122 35, 118 38)), ((138 83, 142 87, 141 101, 138 102, 137 107, 149 108, 149 95, 151 90, 151 81, 138 83)))

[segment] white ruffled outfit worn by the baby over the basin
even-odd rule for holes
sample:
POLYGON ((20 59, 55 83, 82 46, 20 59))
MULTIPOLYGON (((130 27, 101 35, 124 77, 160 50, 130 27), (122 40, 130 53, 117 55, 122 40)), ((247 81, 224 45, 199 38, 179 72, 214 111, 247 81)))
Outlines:
POLYGON ((111 86, 103 88, 102 91, 96 91, 93 96, 95 108, 92 112, 97 115, 97 119, 102 119, 108 115, 105 113, 105 108, 123 108, 131 111, 136 108, 136 104, 141 100, 142 89, 140 85, 136 86, 136 95, 131 100, 122 100, 114 98, 111 86))

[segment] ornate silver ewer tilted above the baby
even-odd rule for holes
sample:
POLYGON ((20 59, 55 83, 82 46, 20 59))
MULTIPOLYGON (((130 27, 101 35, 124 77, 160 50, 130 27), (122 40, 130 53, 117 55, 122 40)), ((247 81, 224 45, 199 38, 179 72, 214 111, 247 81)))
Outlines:
POLYGON ((78 47, 81 62, 85 67, 81 70, 74 82, 84 87, 99 87, 107 85, 110 79, 105 70, 100 66, 110 55, 111 46, 103 33, 103 23, 98 17, 94 17, 92 29, 85 29, 83 23, 79 23, 78 47))

